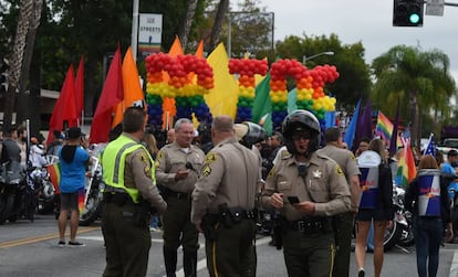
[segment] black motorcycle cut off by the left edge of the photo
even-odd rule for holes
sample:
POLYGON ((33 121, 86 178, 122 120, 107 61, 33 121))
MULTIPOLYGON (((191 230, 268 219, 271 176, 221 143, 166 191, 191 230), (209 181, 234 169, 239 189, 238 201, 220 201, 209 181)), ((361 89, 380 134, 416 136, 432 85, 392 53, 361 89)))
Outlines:
POLYGON ((19 162, 0 166, 0 224, 25 217, 34 220, 34 194, 19 162))

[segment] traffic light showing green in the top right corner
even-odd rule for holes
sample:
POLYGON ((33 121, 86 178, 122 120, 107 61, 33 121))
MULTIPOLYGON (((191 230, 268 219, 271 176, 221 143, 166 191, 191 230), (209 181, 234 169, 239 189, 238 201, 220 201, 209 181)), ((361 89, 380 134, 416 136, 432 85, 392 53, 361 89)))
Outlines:
POLYGON ((394 26, 423 26, 423 0, 394 0, 394 26))

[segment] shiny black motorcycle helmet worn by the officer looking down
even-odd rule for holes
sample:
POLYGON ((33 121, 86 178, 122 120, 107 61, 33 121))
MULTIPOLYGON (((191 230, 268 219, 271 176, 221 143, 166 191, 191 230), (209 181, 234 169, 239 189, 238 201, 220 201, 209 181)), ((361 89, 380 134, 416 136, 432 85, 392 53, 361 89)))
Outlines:
POLYGON ((284 138, 284 145, 290 153, 296 155, 298 150, 294 147, 292 135, 294 131, 309 130, 312 134, 312 138, 309 142, 309 148, 305 152, 305 157, 310 157, 320 146, 320 121, 318 118, 304 109, 296 109, 289 114, 282 124, 282 134, 284 138))

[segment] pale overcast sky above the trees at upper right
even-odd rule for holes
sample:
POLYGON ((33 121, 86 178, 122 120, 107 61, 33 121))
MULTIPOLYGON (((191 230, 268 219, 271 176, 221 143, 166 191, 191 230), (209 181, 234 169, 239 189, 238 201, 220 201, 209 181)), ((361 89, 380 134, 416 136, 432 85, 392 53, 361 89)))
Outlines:
POLYGON ((425 15, 423 28, 400 28, 392 24, 393 0, 260 1, 268 12, 274 12, 275 41, 291 34, 335 33, 343 44, 361 41, 367 63, 399 44, 438 49, 450 58, 450 73, 458 84, 458 7, 446 6, 444 17, 425 15))

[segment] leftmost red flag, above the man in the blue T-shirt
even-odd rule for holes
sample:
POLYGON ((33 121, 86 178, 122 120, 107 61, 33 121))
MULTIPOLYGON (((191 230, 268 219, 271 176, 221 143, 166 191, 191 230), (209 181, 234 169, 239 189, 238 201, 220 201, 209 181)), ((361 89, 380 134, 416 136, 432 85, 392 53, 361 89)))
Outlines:
POLYGON ((70 65, 66 72, 65 81, 62 85, 61 93, 50 120, 50 132, 46 142, 52 140, 52 131, 62 131, 64 121, 67 121, 67 127, 76 126, 77 114, 75 107, 75 82, 73 77, 73 64, 70 65))

